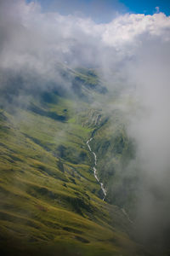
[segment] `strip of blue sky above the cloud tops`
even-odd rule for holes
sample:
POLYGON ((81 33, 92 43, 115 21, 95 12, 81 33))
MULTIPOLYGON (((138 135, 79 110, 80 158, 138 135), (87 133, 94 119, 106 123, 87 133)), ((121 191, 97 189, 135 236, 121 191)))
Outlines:
MULTIPOLYGON (((85 15, 97 22, 109 22, 117 14, 133 13, 153 15, 163 12, 170 15, 169 0, 36 0, 42 10, 56 11, 61 15, 85 15)), ((31 2, 31 0, 27 0, 31 2)))

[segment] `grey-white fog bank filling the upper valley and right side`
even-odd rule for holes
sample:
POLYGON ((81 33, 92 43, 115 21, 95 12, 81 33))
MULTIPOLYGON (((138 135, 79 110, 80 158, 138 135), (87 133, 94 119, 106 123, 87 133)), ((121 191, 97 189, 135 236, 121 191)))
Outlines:
POLYGON ((99 68, 109 90, 117 84, 130 89, 136 105, 128 115, 127 132, 137 145, 141 180, 138 230, 143 240, 147 234, 167 242, 163 237, 170 224, 170 17, 116 13, 110 22, 97 23, 93 11, 87 17, 82 10, 79 15, 71 7, 71 14, 69 8, 59 14, 42 12, 39 3, 1 1, 0 88, 16 90, 20 78, 19 101, 27 89, 50 90, 50 84, 70 88, 59 71, 64 65, 99 68))

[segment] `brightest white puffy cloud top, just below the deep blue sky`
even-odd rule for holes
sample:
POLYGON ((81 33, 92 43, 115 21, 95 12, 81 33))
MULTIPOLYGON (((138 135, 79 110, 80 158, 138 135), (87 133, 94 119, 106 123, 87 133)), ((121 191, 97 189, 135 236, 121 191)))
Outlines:
MULTIPOLYGON (((139 36, 166 36, 169 39, 170 17, 155 15, 122 15, 105 25, 102 38, 105 44, 121 48, 124 44, 139 44, 139 36)), ((142 38, 144 40, 144 38, 142 38)))

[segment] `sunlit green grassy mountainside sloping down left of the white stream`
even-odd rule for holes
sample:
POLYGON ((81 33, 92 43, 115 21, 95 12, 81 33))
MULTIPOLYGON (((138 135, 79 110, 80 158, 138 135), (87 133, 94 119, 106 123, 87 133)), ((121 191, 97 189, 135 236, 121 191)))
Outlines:
MULTIPOLYGON (((88 96, 92 88, 83 86, 88 96)), ((92 98, 100 93, 96 86, 92 98)), ((24 108, 8 104, 0 110, 3 255, 146 255, 130 238, 122 210, 101 200, 94 177, 86 142, 94 134, 96 151, 105 155, 101 133, 108 119, 102 110, 56 92, 29 100, 24 108)))

